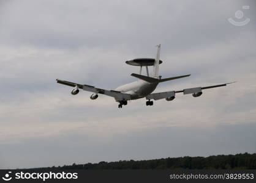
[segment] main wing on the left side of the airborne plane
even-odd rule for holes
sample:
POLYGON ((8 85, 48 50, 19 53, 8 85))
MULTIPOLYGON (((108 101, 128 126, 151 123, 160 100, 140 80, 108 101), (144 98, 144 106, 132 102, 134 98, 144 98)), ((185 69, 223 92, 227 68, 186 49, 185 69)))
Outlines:
POLYGON ((60 80, 60 79, 56 79, 56 81, 59 84, 68 85, 70 87, 78 87, 78 88, 83 89, 85 91, 91 91, 92 93, 100 93, 100 94, 103 94, 103 95, 111 96, 111 97, 115 98, 116 101, 122 101, 122 100, 129 100, 130 99, 129 94, 122 93, 120 91, 105 90, 105 89, 102 89, 102 88, 93 87, 91 85, 76 84, 74 82, 63 81, 63 80, 60 80))

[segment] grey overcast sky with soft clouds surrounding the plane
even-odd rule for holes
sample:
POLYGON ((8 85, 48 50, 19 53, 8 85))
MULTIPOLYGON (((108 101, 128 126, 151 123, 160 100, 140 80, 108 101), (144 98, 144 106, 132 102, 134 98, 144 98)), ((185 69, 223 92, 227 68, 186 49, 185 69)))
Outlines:
POLYGON ((0 0, 0 168, 256 152, 255 9, 255 1, 0 0), (55 81, 114 89, 136 80, 125 61, 155 57, 159 43, 163 77, 192 75, 155 92, 238 82, 118 109, 113 98, 72 96, 55 81))

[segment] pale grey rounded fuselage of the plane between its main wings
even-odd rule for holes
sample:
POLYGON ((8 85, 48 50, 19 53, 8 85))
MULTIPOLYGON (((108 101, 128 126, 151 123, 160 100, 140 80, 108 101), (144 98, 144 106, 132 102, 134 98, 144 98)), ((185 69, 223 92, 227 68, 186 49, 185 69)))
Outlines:
POLYGON ((144 98, 154 91, 158 83, 149 83, 146 81, 135 81, 130 82, 125 85, 121 85, 115 89, 115 91, 121 91, 122 93, 127 93, 131 95, 131 99, 144 98))

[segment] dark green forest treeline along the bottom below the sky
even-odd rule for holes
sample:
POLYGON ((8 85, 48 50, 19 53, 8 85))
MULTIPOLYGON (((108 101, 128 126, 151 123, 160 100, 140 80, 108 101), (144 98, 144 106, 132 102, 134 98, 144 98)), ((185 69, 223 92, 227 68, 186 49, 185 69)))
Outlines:
POLYGON ((152 160, 120 160, 46 167, 42 169, 138 170, 138 169, 256 169, 256 153, 209 157, 168 157, 152 160))

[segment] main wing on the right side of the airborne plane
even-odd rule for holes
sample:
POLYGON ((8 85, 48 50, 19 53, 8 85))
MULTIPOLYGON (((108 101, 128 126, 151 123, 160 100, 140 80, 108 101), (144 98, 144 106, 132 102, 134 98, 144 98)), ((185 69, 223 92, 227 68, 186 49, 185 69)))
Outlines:
MULTIPOLYGON (((226 84, 220 84, 220 85, 212 85, 208 87, 195 87, 195 88, 186 88, 184 90, 178 90, 178 91, 165 91, 160 93, 151 93, 150 95, 146 96, 146 99, 164 99, 164 98, 171 98, 175 97, 175 93, 183 93, 184 95, 192 94, 194 97, 200 96, 202 94, 201 90, 209 89, 209 88, 216 88, 216 87, 224 87, 228 84, 232 84, 234 82, 226 83, 226 84)), ((173 98, 174 99, 174 98, 173 98)))

